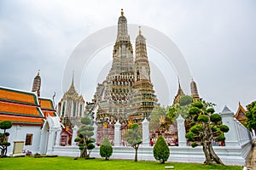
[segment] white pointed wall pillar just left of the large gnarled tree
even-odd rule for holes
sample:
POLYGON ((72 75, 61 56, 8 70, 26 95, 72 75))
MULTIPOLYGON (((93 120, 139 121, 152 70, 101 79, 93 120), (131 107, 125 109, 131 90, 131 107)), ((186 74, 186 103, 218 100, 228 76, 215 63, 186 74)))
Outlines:
POLYGON ((185 129, 185 119, 183 116, 179 115, 176 119, 177 121, 177 139, 178 139, 178 146, 186 146, 186 129, 185 129))

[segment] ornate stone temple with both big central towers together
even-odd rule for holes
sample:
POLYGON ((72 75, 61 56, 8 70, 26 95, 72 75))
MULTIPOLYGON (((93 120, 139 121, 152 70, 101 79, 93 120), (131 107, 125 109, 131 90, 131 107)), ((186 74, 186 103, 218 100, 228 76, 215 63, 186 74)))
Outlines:
POLYGON ((154 105, 157 98, 150 80, 146 39, 139 29, 133 51, 122 10, 111 69, 97 85, 94 99, 87 103, 85 112, 96 122, 142 122, 150 116, 154 105))

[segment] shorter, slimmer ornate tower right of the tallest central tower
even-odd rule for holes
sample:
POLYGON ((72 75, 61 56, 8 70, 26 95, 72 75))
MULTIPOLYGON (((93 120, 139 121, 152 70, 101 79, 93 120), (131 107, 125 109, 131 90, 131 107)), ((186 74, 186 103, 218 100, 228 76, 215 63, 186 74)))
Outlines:
POLYGON ((130 120, 142 122, 144 117, 148 117, 154 109, 157 99, 154 95, 153 84, 150 81, 146 39, 143 37, 140 29, 139 35, 136 38, 135 48, 135 83, 129 98, 128 117, 130 120))

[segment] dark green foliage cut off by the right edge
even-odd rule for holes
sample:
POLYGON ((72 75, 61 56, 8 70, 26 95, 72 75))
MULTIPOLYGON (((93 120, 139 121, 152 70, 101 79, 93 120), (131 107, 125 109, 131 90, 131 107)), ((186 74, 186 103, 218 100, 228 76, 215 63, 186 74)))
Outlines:
POLYGON ((247 105, 247 127, 248 129, 256 129, 256 101, 253 101, 251 104, 247 105))

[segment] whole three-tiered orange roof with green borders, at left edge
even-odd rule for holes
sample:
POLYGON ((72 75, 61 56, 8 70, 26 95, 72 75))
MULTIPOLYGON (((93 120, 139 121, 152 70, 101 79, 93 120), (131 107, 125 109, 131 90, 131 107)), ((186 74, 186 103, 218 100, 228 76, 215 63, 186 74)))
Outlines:
POLYGON ((41 126, 43 119, 44 114, 35 94, 0 87, 0 121, 41 126))

